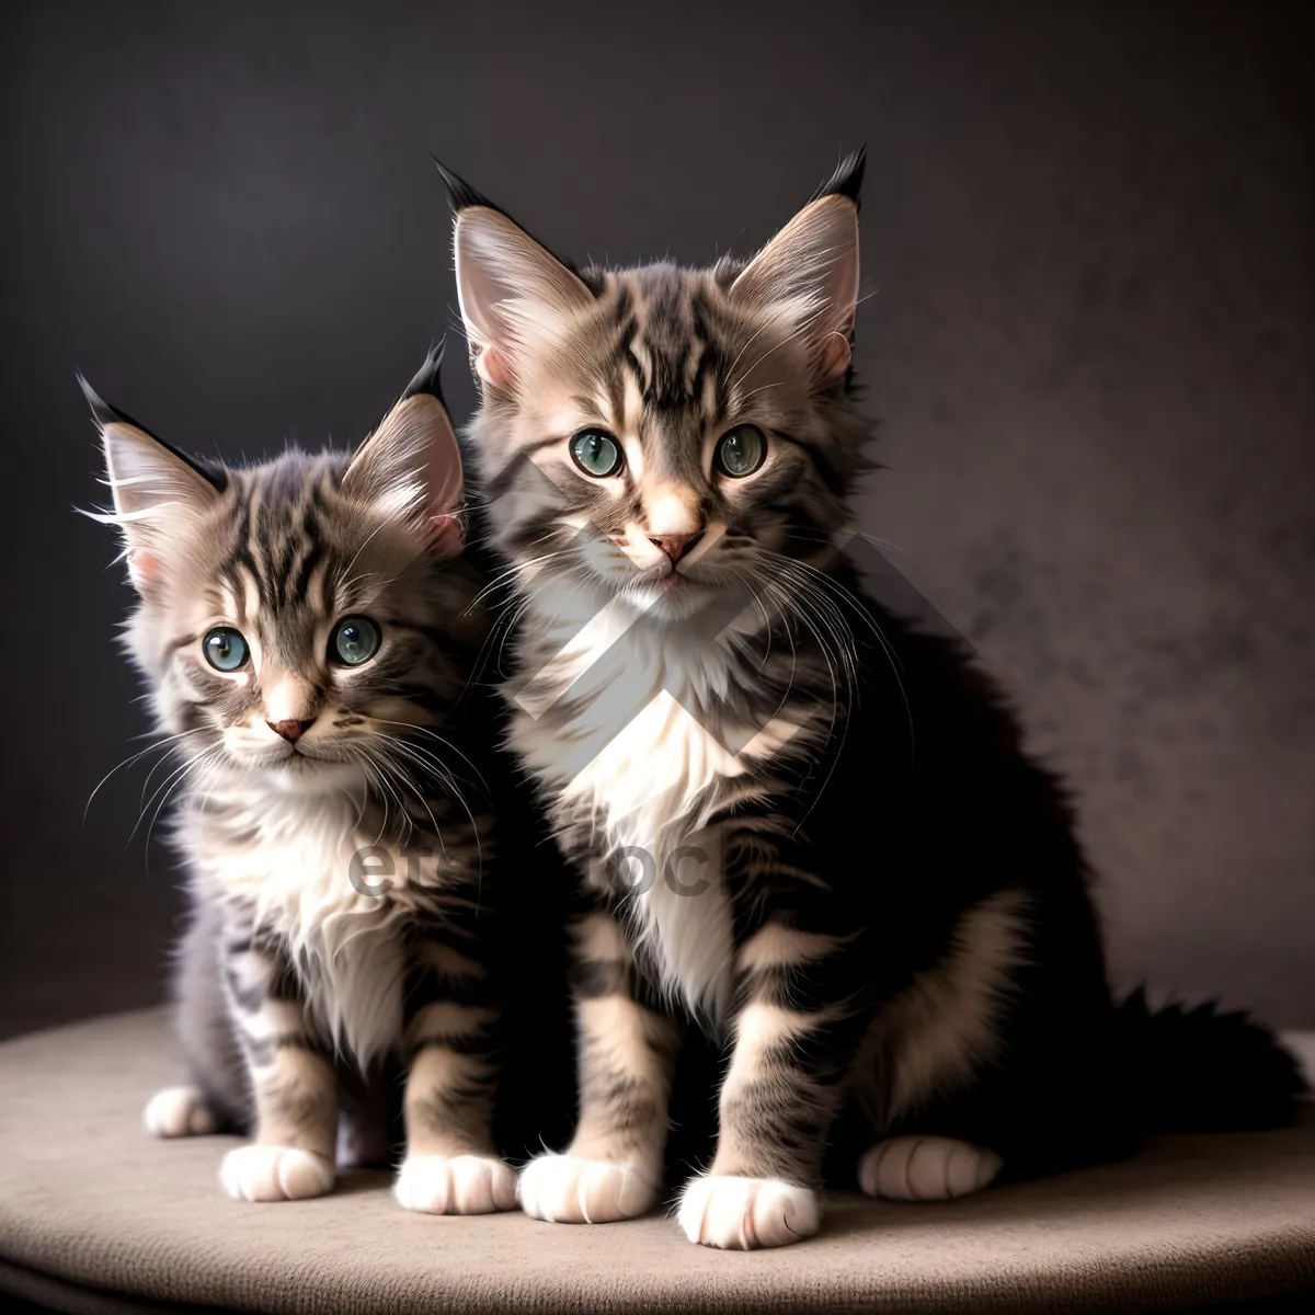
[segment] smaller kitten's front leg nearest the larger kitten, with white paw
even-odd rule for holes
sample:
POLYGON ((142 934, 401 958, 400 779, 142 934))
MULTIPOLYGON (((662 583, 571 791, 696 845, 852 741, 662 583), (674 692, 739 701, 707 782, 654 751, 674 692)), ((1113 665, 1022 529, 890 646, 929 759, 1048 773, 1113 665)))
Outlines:
MULTIPOLYGON (((472 938, 472 945, 476 943, 472 938)), ((483 1215, 515 1207, 515 1173, 493 1148, 488 969, 438 940, 421 943, 408 989, 406 1157, 393 1195, 408 1210, 483 1215)))

